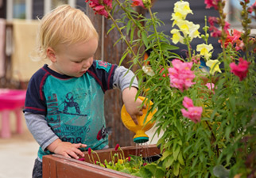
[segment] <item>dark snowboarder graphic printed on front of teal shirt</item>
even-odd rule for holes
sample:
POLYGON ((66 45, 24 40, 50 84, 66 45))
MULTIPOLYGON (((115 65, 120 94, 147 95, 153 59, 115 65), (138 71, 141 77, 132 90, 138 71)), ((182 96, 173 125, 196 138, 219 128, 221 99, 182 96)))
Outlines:
POLYGON ((81 113, 80 102, 76 102, 83 100, 86 95, 83 93, 76 97, 68 92, 63 99, 58 99, 54 93, 47 99, 48 124, 64 142, 83 142, 91 130, 91 121, 87 120, 86 114, 81 113))

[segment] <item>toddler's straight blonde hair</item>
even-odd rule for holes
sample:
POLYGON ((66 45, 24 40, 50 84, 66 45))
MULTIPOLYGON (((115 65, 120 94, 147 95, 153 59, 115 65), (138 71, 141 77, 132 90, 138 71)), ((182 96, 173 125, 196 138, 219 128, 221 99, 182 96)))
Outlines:
POLYGON ((37 53, 46 59, 46 50, 56 50, 58 44, 76 44, 87 42, 99 35, 90 19, 80 9, 69 5, 58 6, 41 19, 37 34, 37 53))

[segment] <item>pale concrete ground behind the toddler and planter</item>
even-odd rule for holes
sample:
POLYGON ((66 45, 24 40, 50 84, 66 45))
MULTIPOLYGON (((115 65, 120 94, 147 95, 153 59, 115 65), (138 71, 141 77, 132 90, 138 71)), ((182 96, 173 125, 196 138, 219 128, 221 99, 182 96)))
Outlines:
MULTIPOLYGON (((1 116, 0 116, 1 121, 1 116)), ((38 144, 22 119, 24 132, 15 133, 15 118, 10 117, 12 136, 11 138, 0 137, 0 178, 29 178, 32 177, 34 160, 37 157, 38 144)), ((2 128, 0 122, 0 129, 2 128)), ((146 132, 149 135, 149 144, 157 142, 153 138, 153 129, 146 132)))

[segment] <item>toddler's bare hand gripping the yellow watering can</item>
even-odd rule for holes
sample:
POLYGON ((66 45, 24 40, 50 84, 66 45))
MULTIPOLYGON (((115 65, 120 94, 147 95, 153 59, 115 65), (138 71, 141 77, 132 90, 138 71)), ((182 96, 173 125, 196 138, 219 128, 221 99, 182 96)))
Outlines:
POLYGON ((130 114, 130 117, 134 120, 134 123, 138 125, 137 116, 142 116, 142 109, 145 109, 145 105, 142 106, 142 100, 139 98, 135 101, 137 89, 134 87, 126 88, 122 91, 122 100, 126 106, 126 111, 130 114))

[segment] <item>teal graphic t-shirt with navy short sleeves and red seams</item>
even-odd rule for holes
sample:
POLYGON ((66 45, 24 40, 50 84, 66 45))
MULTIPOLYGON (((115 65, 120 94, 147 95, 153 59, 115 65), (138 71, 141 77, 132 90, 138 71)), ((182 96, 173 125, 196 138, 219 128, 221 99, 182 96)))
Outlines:
MULTIPOLYGON (((29 81, 24 111, 45 115, 48 126, 63 142, 103 149, 108 145, 104 92, 113 88, 116 67, 94 61, 82 77, 72 78, 45 65, 29 81)), ((40 159, 47 154, 48 150, 38 151, 40 159)))

